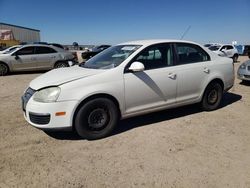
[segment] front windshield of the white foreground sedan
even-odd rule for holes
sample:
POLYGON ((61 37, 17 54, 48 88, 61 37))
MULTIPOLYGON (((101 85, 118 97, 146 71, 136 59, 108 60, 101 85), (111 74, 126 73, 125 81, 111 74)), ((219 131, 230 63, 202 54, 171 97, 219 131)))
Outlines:
POLYGON ((120 65, 133 52, 135 52, 139 45, 119 45, 112 46, 100 54, 97 54, 86 63, 81 64, 81 67, 91 69, 111 69, 120 65))

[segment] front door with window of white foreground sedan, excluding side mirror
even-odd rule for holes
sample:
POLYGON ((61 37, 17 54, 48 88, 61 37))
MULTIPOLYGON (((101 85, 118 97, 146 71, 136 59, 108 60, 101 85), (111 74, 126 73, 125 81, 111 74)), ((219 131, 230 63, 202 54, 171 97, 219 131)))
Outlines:
POLYGON ((148 47, 133 58, 124 72, 127 114, 175 103, 177 81, 172 65, 170 44, 148 47), (144 64, 144 71, 128 71, 128 67, 136 61, 144 64))

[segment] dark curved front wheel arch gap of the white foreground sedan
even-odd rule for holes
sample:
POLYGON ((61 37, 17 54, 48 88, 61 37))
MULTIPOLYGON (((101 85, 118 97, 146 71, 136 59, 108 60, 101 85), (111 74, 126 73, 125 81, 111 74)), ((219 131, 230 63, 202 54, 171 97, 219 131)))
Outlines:
POLYGON ((107 93, 93 94, 91 96, 88 96, 87 98, 84 98, 79 104, 77 104, 77 107, 74 109, 72 122, 71 122, 73 130, 75 129, 75 118, 76 118, 76 114, 79 111, 79 109, 84 104, 86 104, 88 101, 91 101, 91 100, 96 99, 96 98, 107 98, 107 99, 110 99, 112 102, 114 102, 114 104, 117 106, 117 109, 118 109, 119 118, 121 117, 120 104, 119 104, 118 100, 114 96, 112 96, 110 94, 107 94, 107 93))

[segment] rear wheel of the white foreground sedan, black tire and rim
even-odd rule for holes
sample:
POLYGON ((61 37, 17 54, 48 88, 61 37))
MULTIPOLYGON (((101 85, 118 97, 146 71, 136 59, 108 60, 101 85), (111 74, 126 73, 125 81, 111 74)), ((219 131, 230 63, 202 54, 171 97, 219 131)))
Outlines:
POLYGON ((222 99, 223 89, 218 82, 210 83, 201 101, 201 107, 205 111, 212 111, 219 108, 222 99))

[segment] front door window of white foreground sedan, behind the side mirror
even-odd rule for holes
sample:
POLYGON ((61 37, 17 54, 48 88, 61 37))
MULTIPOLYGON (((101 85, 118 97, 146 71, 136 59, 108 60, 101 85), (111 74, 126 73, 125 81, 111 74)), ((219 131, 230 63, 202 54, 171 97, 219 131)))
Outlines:
POLYGON ((170 44, 154 45, 139 53, 134 61, 144 64, 145 70, 173 65, 173 52, 170 44))

